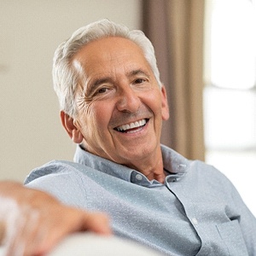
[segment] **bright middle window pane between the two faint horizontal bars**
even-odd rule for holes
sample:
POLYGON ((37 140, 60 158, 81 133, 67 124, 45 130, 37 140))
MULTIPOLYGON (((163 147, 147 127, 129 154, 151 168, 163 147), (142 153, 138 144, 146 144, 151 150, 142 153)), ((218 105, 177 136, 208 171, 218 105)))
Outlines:
POLYGON ((204 90, 205 143, 208 150, 256 148, 256 93, 204 90))

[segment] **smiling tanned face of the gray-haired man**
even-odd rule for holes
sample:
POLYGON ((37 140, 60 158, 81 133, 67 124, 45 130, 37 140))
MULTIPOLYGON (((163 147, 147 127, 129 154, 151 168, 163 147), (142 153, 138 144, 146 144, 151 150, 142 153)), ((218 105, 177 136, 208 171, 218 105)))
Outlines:
POLYGON ((129 39, 102 38, 85 45, 73 65, 85 73, 76 94, 76 142, 84 137, 87 151, 125 166, 153 157, 169 113, 142 49, 129 39))

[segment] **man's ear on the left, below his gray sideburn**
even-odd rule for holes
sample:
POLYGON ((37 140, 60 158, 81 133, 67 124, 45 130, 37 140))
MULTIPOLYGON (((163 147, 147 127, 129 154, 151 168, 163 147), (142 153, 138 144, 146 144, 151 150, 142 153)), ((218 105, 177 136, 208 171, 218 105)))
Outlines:
POLYGON ((64 111, 61 111, 61 123, 74 143, 82 143, 84 137, 81 131, 75 125, 74 119, 64 111))

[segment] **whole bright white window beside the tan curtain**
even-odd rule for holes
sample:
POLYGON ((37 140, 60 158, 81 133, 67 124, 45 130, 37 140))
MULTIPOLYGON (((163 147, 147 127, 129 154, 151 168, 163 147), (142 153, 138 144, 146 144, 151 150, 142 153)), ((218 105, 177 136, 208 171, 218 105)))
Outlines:
POLYGON ((256 216, 256 0, 207 0, 206 161, 230 178, 256 216))

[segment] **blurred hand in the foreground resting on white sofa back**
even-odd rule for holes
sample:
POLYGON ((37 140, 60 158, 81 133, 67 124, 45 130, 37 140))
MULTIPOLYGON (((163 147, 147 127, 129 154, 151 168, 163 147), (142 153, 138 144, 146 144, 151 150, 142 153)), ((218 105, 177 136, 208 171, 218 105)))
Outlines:
POLYGON ((0 201, 0 241, 7 255, 44 255, 75 231, 111 234, 106 215, 64 206, 20 183, 0 182, 0 201))

